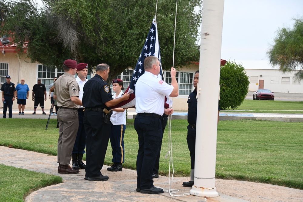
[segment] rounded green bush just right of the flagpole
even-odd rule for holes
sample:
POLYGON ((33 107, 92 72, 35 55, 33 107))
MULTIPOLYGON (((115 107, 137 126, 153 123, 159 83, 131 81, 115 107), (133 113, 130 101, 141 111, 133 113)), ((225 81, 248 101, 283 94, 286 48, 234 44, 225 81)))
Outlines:
POLYGON ((249 78, 244 67, 235 61, 227 61, 220 68, 220 86, 220 108, 238 108, 248 93, 249 78))

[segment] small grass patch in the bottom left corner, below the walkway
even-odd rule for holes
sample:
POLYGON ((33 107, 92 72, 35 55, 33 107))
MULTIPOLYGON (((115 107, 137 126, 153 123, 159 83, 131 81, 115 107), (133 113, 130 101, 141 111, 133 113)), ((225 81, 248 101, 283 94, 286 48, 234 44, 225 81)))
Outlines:
POLYGON ((24 201, 31 192, 53 184, 62 183, 55 175, 37 173, 22 168, 0 164, 0 201, 24 201))

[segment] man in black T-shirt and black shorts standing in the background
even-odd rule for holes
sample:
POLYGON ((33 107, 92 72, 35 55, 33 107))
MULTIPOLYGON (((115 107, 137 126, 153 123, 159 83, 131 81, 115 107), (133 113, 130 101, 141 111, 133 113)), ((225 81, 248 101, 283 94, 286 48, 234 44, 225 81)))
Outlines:
POLYGON ((47 97, 46 88, 45 88, 45 85, 41 83, 40 78, 38 78, 37 84, 35 84, 33 87, 32 96, 33 96, 32 100, 34 101, 34 113, 33 114, 36 114, 36 110, 37 110, 37 107, 39 104, 42 109, 42 114, 45 114, 44 101, 46 101, 46 97, 47 97))

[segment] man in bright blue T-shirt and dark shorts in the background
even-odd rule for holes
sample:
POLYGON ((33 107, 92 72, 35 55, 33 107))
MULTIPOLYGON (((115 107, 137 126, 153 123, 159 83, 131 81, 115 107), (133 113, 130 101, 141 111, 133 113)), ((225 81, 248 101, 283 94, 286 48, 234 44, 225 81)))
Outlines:
POLYGON ((21 114, 24 115, 26 100, 28 99, 29 96, 29 88, 28 85, 25 84, 24 78, 21 79, 21 83, 17 84, 16 92, 17 92, 16 98, 17 98, 17 104, 19 109, 19 115, 21 114))

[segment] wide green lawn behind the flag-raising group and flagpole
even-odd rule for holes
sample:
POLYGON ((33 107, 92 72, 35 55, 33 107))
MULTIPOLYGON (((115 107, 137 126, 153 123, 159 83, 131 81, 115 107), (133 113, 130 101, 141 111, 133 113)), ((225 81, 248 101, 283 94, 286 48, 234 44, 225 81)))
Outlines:
MULTIPOLYGON (((51 120, 0 120, 0 145, 45 154, 57 154, 58 129, 51 120)), ((172 144, 175 176, 190 175, 190 157, 186 143, 186 120, 172 121, 172 144)), ((217 137, 216 177, 278 184, 303 189, 303 124, 278 121, 220 121, 217 137)), ((160 171, 168 175, 169 159, 165 131, 160 157, 160 171)), ((125 168, 136 167, 138 139, 133 120, 127 121, 125 131, 125 168)), ((203 146, 203 145, 202 145, 203 146)), ((108 145, 105 164, 111 165, 108 145)), ((0 177, 1 174, 0 174, 0 177)))

